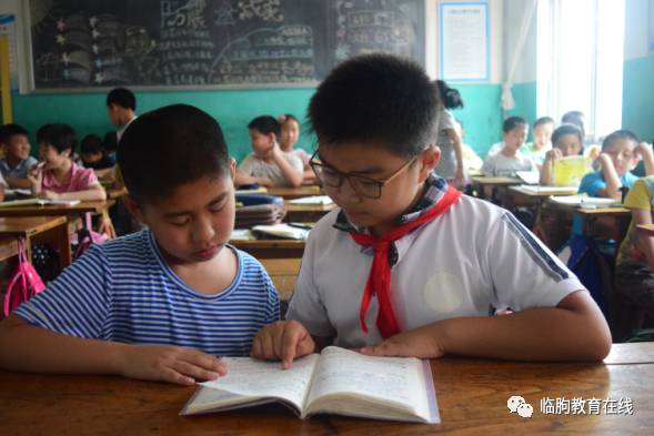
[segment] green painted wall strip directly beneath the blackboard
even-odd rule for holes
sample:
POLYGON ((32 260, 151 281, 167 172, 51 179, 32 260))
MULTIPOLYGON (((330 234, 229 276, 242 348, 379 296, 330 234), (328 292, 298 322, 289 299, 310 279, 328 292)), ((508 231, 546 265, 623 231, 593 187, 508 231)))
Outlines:
MULTIPOLYGON (((313 89, 137 92, 137 112, 173 103, 197 105, 219 120, 230 152, 240 160, 251 150, 246 128, 250 120, 282 113, 302 120, 312 94, 313 89)), ((80 139, 114 130, 107 118, 105 93, 13 95, 13 108, 14 121, 28 129, 32 144, 39 126, 48 122, 71 124, 80 139)), ((302 134, 299 145, 310 150, 313 140, 302 134)))

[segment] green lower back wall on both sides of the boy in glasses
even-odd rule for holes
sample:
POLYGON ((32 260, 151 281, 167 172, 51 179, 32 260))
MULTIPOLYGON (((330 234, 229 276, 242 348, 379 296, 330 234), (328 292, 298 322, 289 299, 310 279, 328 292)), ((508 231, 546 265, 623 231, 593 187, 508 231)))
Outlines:
MULTIPOLYGON (((455 85, 466 103, 454 115, 463 122, 465 141, 482 156, 499 141, 502 126, 500 85, 455 85)), ((250 152, 246 125, 255 116, 292 113, 304 118, 313 89, 280 90, 219 90, 184 92, 137 92, 137 112, 172 103, 189 103, 199 107, 219 120, 223 128, 230 152, 237 159, 250 152)), ((48 122, 66 122, 78 132, 79 138, 89 133, 103 135, 113 130, 107 118, 104 93, 53 93, 13 95, 14 121, 24 125, 36 144, 36 132, 48 122)), ((311 150, 314 139, 304 134, 299 145, 311 150)), ((36 146, 32 150, 36 153, 36 146)))

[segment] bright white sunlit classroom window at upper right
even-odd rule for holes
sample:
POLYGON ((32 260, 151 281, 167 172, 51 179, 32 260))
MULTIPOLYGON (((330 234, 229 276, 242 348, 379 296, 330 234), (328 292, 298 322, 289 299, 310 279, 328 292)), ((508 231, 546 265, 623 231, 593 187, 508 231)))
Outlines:
POLYGON ((598 140, 622 125, 624 0, 540 0, 537 112, 580 110, 598 140))

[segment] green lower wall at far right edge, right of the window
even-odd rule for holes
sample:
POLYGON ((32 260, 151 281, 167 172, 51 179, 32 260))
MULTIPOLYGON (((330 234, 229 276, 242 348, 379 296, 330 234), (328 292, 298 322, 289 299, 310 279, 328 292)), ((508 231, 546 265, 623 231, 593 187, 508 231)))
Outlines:
POLYGON ((654 138, 654 53, 624 62, 622 126, 644 141, 654 138))

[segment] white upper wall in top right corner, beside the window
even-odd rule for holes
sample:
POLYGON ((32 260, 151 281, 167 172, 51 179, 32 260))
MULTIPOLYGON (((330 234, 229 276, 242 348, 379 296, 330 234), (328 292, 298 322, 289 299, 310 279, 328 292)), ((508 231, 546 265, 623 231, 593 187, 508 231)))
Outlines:
POLYGON ((654 0, 626 0, 624 58, 642 58, 648 53, 654 37, 654 0))

